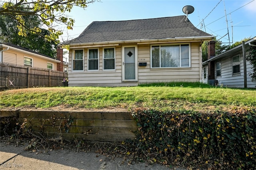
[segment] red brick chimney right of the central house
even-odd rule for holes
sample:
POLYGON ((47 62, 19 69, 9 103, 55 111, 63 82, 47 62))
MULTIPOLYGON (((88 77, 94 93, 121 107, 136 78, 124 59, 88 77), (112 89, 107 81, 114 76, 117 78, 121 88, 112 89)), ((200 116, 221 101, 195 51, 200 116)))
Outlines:
MULTIPOLYGON (((208 43, 208 59, 215 56, 215 41, 210 41, 208 43)), ((214 61, 210 61, 208 63, 208 80, 215 79, 215 63, 214 61)))

